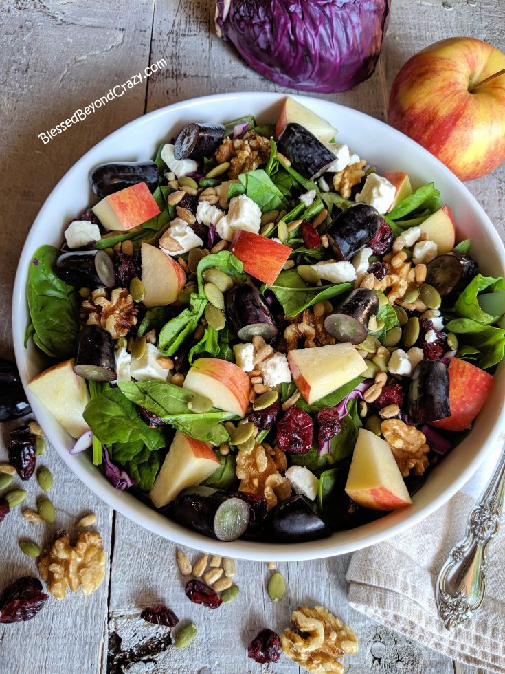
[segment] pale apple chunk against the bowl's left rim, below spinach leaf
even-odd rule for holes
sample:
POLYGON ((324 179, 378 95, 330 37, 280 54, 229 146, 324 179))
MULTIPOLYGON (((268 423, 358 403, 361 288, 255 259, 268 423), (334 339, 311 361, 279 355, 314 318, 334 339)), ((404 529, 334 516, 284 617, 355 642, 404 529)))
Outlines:
POLYGON ((74 372, 74 358, 38 374, 28 384, 28 389, 72 437, 80 437, 89 431, 82 417, 89 402, 88 387, 74 372))

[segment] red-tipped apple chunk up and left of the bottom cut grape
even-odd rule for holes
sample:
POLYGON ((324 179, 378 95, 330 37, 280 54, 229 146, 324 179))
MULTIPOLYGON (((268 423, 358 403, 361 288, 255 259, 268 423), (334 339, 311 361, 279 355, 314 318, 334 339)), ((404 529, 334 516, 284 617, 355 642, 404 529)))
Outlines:
POLYGON ((149 492, 150 499, 156 508, 163 508, 179 492, 203 482, 219 466, 219 459, 210 444, 177 431, 149 492))

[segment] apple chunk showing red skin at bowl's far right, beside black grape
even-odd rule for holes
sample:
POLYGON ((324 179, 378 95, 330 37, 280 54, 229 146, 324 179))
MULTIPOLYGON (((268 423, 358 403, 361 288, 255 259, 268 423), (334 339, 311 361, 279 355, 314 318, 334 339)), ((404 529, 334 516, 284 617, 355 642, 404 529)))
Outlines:
POLYGON ((461 358, 449 363, 449 407, 451 415, 431 422, 430 426, 446 431, 464 431, 481 411, 495 379, 480 367, 461 358))

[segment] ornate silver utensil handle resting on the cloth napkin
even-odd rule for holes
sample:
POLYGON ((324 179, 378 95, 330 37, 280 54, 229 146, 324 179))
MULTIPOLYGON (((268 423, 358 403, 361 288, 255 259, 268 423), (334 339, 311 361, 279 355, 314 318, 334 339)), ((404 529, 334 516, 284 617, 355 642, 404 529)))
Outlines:
POLYGON ((505 495, 505 446, 493 475, 471 510, 467 535, 440 569, 436 602, 449 630, 462 627, 480 609, 486 594, 487 546, 500 528, 505 495))

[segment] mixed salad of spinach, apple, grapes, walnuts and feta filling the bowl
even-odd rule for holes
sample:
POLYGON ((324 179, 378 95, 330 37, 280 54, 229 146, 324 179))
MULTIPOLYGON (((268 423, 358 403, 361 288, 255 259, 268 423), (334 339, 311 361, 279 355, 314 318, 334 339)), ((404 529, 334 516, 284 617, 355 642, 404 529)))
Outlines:
POLYGON ((54 365, 29 391, 113 486, 220 541, 412 507, 493 391, 504 279, 436 185, 291 98, 175 133, 93 168, 33 251, 25 342, 54 365))

